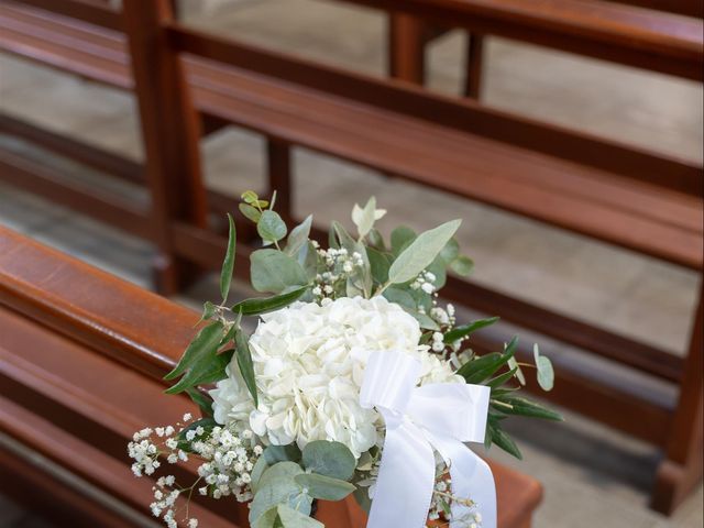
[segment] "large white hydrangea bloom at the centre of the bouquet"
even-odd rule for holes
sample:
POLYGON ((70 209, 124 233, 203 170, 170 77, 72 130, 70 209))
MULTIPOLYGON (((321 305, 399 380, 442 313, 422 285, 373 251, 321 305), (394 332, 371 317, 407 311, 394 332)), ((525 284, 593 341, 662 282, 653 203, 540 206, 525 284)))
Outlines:
POLYGON ((262 316, 250 339, 258 388, 255 409, 237 362, 210 392, 219 424, 242 424, 266 443, 344 443, 359 458, 381 443, 383 421, 359 403, 370 354, 400 350, 422 364, 420 384, 464 381, 419 345, 414 317, 384 297, 296 302, 262 316))

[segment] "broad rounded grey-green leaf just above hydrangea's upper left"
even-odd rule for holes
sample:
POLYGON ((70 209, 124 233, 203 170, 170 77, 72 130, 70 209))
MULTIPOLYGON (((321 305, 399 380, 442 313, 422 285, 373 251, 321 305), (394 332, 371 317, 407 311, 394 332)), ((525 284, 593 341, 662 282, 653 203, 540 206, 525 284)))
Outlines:
POLYGON ((257 250, 250 255, 252 287, 257 292, 280 294, 305 286, 306 272, 294 257, 276 250, 257 250))

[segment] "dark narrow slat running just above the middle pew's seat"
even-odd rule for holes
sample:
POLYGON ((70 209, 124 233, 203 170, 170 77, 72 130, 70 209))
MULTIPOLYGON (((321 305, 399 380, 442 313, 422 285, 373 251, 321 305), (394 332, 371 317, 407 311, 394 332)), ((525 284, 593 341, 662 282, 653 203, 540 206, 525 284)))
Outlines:
MULTIPOLYGON (((460 101, 431 94, 403 81, 376 79, 231 38, 221 38, 177 23, 167 28, 167 32, 173 44, 184 52, 300 85, 302 88, 341 96, 345 100, 367 103, 376 109, 398 112, 634 179, 657 183, 695 196, 701 196, 704 190, 702 167, 697 165, 518 118, 468 99, 460 101)), ((199 106, 201 111, 208 111, 202 105, 199 106)))

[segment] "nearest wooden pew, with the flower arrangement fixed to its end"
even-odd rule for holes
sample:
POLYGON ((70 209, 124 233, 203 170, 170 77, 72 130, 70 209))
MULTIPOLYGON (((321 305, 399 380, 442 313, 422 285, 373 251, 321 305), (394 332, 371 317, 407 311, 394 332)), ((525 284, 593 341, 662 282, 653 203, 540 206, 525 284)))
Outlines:
MULTIPOLYGON (((197 319, 190 310, 0 228, 0 431, 145 512, 151 485, 132 476, 125 444, 145 425, 173 424, 183 413, 195 413, 187 398, 163 394, 161 375, 180 354, 197 319)), ((11 492, 22 475, 11 471, 16 463, 4 462, 0 457, 2 488, 11 492)), ((499 526, 527 528, 540 485, 492 466, 499 526)), ((50 497, 52 486, 46 486, 50 497)), ((73 504, 84 512, 86 502, 73 504)), ((57 505, 48 503, 53 515, 57 505)), ((209 509, 204 504, 193 506, 202 526, 246 526, 246 509, 237 503, 208 501, 209 509)), ((88 520, 97 515, 91 506, 88 520)), ((111 520, 90 525, 72 517, 72 526, 133 526, 113 518, 114 512, 100 512, 111 520)), ((363 517, 352 512, 350 517, 342 504, 321 505, 331 528, 361 528, 363 517)))

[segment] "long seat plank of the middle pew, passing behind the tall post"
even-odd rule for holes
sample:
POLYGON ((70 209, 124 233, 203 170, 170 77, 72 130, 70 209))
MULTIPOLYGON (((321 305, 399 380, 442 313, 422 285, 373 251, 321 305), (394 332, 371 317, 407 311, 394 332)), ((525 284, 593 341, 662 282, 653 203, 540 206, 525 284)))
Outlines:
MULTIPOLYGON (((118 33, 33 16, 34 10, 0 8, 3 48, 131 87, 118 33)), ((697 197, 235 67, 189 59, 188 70, 206 114, 688 267, 702 265, 697 197)))

